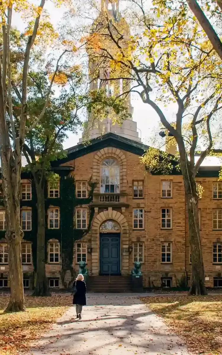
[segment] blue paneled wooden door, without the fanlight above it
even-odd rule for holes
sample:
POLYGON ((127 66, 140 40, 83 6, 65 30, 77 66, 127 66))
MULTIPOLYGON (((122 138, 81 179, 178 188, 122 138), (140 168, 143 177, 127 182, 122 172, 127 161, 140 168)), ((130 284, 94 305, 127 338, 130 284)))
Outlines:
POLYGON ((120 275, 120 233, 100 233, 101 275, 120 275))

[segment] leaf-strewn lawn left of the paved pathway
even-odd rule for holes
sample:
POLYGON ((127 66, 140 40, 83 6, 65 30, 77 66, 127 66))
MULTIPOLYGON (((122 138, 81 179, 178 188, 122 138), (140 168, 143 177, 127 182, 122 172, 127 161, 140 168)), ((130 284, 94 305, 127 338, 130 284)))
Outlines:
POLYGON ((8 295, 0 295, 0 354, 17 355, 47 332, 51 324, 72 304, 70 294, 51 297, 26 296, 27 312, 4 314, 8 295))

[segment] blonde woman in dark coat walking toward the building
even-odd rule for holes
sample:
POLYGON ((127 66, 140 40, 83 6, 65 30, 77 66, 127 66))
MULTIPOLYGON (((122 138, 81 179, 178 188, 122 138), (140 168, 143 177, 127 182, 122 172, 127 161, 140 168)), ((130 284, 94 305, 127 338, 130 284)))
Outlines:
POLYGON ((76 305, 76 318, 81 319, 82 306, 86 306, 86 283, 82 274, 78 274, 73 287, 76 288, 76 292, 72 304, 76 305))

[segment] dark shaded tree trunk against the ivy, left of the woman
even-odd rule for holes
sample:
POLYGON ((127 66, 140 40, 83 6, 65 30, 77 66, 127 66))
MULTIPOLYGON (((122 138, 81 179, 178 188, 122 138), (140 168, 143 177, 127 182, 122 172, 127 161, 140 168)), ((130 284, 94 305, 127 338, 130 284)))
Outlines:
MULTIPOLYGON (((37 179, 35 179, 36 181, 37 179)), ((45 199, 44 184, 36 182, 37 193, 37 273, 34 296, 50 296, 47 277, 45 275, 45 199)))

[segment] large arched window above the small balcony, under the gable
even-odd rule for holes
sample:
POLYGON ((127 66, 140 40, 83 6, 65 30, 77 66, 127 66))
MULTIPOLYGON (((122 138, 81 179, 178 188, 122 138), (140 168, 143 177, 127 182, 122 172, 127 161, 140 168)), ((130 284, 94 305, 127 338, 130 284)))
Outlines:
POLYGON ((119 164, 112 158, 103 160, 100 168, 100 192, 119 193, 119 164))

